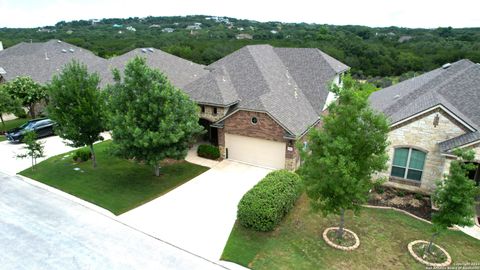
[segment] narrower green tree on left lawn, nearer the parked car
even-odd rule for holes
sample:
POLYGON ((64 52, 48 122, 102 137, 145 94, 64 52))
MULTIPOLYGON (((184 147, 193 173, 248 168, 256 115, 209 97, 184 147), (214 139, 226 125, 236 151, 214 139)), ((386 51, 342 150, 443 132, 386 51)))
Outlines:
POLYGON ((97 166, 93 143, 102 139, 106 113, 102 94, 98 89, 100 78, 89 74, 87 67, 73 61, 55 75, 48 85, 48 116, 57 122, 55 132, 70 140, 74 147, 87 145, 97 166))

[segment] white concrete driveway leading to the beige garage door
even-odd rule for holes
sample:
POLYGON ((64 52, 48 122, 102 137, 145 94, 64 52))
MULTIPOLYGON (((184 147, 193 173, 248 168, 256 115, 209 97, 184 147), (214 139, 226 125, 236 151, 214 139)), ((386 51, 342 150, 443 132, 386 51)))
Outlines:
POLYGON ((216 261, 236 220, 238 202, 268 172, 269 169, 224 160, 118 219, 216 261))

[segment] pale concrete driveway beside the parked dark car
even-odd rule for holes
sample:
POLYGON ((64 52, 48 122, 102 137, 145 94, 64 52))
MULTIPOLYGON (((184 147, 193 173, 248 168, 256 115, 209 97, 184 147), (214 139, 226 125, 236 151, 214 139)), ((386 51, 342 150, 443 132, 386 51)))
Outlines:
MULTIPOLYGON (((106 140, 110 138, 110 134, 106 132, 102 133, 102 136, 106 140)), ((74 149, 70 146, 67 146, 65 141, 58 136, 42 138, 39 139, 39 141, 44 143, 45 157, 38 159, 38 163, 52 156, 56 156, 74 149)), ((0 142, 0 172, 4 172, 9 175, 15 175, 18 172, 21 172, 32 166, 31 159, 20 159, 16 157, 18 154, 25 153, 25 150, 23 149, 24 147, 25 144, 23 143, 10 143, 8 141, 0 142)))

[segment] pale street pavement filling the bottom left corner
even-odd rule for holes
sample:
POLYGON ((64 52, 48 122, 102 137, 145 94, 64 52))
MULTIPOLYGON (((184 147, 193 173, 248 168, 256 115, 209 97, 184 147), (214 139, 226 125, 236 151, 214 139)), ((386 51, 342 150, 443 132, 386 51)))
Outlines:
POLYGON ((0 268, 225 269, 3 173, 0 268))

